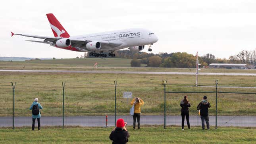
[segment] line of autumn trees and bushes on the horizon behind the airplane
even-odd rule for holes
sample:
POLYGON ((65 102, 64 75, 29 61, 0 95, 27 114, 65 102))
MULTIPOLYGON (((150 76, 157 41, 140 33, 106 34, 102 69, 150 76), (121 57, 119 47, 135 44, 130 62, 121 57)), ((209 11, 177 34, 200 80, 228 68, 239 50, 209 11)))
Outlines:
MULTIPOLYGON (((131 66, 140 67, 141 64, 146 64, 148 67, 194 67, 196 63, 196 56, 188 54, 187 52, 173 52, 173 53, 146 53, 146 52, 131 52, 130 50, 117 50, 114 52, 115 57, 110 58, 131 58, 131 66)), ((90 57, 87 54, 85 58, 90 57)), ((213 54, 204 54, 198 56, 198 61, 202 66, 207 66, 211 63, 256 63, 256 49, 243 50, 229 59, 216 58, 213 54)))

